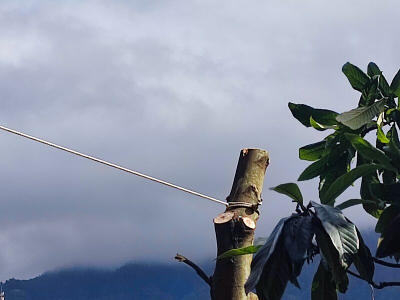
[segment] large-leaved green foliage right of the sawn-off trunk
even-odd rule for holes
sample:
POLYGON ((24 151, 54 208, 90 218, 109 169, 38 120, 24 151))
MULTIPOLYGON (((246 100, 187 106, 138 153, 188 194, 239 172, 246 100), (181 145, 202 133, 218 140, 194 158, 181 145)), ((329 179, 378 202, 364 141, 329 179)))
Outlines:
MULTIPOLYGON (((346 292, 347 274, 354 274, 348 271, 352 264, 357 277, 376 285, 373 274, 378 260, 356 226, 343 215, 341 209, 349 206, 362 204, 377 218, 375 231, 381 236, 376 257, 394 257, 397 262, 400 259, 400 70, 390 85, 373 62, 368 64, 367 73, 349 62, 342 71, 361 93, 357 107, 337 113, 288 104, 292 115, 304 126, 332 131, 321 141, 299 149, 299 158, 312 163, 298 181, 319 177, 320 203, 309 201, 304 206, 296 183, 271 188, 288 195, 296 203, 296 212, 282 218, 261 247, 251 248, 257 252, 245 290, 255 287, 259 299, 280 299, 288 281, 299 287, 296 278, 304 261, 309 263, 317 253, 321 259, 311 299, 337 299, 337 291, 346 292), (375 145, 365 139, 367 134, 371 139, 371 132, 375 145), (360 198, 334 206, 339 195, 359 178, 360 198), (314 236, 316 244, 312 242, 314 236)), ((223 257, 245 254, 242 252, 232 249, 223 257)))

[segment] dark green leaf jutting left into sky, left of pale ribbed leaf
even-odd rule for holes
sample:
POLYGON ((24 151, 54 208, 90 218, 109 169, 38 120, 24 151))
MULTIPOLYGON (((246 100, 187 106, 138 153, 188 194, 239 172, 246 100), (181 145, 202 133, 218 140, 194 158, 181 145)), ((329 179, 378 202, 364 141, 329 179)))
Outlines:
POLYGON ((310 116, 320 124, 335 125, 337 124, 337 112, 328 109, 313 108, 305 104, 288 103, 291 114, 304 126, 310 127, 310 116))

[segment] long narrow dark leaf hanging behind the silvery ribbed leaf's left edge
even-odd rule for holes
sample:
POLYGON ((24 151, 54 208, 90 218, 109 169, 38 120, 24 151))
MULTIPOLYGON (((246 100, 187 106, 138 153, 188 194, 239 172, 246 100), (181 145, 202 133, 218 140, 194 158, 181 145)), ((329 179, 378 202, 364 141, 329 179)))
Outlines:
POLYGON ((315 240, 319 246, 321 263, 329 268, 336 288, 344 293, 348 286, 346 270, 340 263, 339 253, 334 247, 330 236, 325 232, 320 222, 317 222, 315 226, 315 240))

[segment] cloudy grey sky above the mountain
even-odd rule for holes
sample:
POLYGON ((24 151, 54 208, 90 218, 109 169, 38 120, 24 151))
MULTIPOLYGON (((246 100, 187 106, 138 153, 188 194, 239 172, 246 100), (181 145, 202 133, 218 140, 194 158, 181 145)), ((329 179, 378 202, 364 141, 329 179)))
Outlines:
MULTIPOLYGON (((354 108, 346 61, 390 81, 399 13, 395 0, 3 0, 0 124, 221 200, 240 149, 266 149, 267 236, 294 209, 268 187, 294 182, 309 164, 298 148, 328 134, 287 103, 354 108)), ((0 144, 0 281, 215 257, 221 204, 5 131, 0 144)), ((317 179, 299 186, 317 199, 317 179)), ((373 227, 359 207, 345 213, 373 227)))

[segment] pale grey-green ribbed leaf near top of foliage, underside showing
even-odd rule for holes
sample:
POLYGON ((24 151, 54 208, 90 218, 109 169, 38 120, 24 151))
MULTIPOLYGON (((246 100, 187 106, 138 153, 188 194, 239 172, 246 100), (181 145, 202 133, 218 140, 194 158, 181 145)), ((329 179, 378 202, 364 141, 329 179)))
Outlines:
POLYGON ((357 107, 342 112, 336 116, 336 120, 351 129, 358 129, 362 125, 369 123, 376 114, 382 112, 385 103, 385 100, 380 100, 369 106, 357 107))

